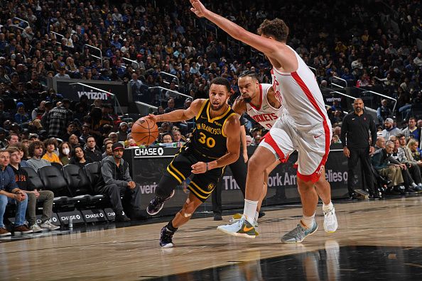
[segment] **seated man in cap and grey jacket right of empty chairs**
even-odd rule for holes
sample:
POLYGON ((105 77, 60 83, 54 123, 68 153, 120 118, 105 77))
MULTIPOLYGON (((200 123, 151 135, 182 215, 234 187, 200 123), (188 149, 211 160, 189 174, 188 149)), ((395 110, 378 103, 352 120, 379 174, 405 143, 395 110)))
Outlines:
POLYGON ((129 214, 131 219, 139 219, 141 191, 129 175, 129 164, 122 159, 124 146, 121 143, 114 143, 112 150, 113 156, 108 156, 101 161, 102 180, 98 182, 94 190, 109 196, 116 213, 116 221, 130 221, 125 214, 129 214), (124 194, 126 197, 124 202, 130 202, 130 206, 122 205, 121 194, 124 194))

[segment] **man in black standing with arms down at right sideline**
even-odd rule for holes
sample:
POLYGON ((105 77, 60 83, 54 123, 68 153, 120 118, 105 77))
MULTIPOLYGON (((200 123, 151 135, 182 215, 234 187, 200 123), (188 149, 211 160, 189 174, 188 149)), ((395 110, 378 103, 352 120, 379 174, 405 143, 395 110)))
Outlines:
MULTIPOLYGON (((375 151, 377 128, 372 116, 364 111, 362 99, 355 99, 353 106, 355 111, 347 114, 342 122, 341 140, 343 153, 348 158, 347 189, 349 189, 350 198, 357 199, 355 187, 353 186, 357 182, 357 162, 360 160, 362 171, 372 170, 369 155, 375 151), (369 131, 371 132, 370 136, 369 131), (369 143, 369 138, 371 138, 371 143, 369 143)), ((371 198, 379 199, 379 194, 374 188, 372 172, 364 173, 364 175, 365 186, 369 190, 371 198)))

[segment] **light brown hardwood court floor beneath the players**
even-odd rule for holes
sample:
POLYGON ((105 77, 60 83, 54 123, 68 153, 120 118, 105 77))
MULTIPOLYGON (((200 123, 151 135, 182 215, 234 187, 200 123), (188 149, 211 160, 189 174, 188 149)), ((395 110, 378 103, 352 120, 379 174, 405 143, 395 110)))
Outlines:
MULTIPOLYGON (((293 274, 298 269, 303 272, 301 279, 318 280, 321 260, 332 260, 332 265, 327 262, 323 280, 365 280, 355 275, 366 268, 365 263, 375 265, 385 274, 385 265, 378 264, 379 255, 374 251, 382 246, 416 251, 418 257, 400 265, 413 270, 410 278, 401 275, 394 280, 422 280, 422 196, 335 204, 335 208, 340 224, 337 232, 323 231, 322 208, 318 206, 318 231, 298 245, 281 244, 279 239, 298 223, 299 207, 266 211, 259 221, 260 235, 255 239, 217 232, 215 228, 229 219, 223 216, 224 221, 213 221, 212 217, 192 219, 175 234, 175 248, 171 249, 158 246, 160 229, 166 223, 0 243, 0 280, 121 281, 168 275, 174 278, 169 276, 166 280, 266 280, 268 277, 299 280, 286 277, 289 270, 293 274), (364 246, 376 247, 365 248, 374 250, 362 254, 365 259, 358 265, 348 263, 347 267, 340 263, 341 249, 347 248, 347 253, 352 254, 364 246), (318 253, 322 249, 325 258, 318 253), (319 258, 313 260, 309 253, 318 253, 319 258), (285 268, 278 272, 264 272, 263 263, 259 265, 260 260, 274 262, 275 258, 271 265, 274 268, 281 264, 277 259, 292 255, 299 260, 285 258, 285 268), (336 256, 337 260, 333 258, 336 256), (288 264, 291 267, 286 267, 288 264), (333 266, 337 270, 333 271, 333 266), (210 268, 215 271, 212 275, 197 277, 188 273, 206 272, 210 268), (217 272, 224 268, 229 270, 217 272), (348 275, 343 275, 344 272, 348 275)), ((386 258, 397 260, 399 254, 393 252, 387 251, 386 258)))

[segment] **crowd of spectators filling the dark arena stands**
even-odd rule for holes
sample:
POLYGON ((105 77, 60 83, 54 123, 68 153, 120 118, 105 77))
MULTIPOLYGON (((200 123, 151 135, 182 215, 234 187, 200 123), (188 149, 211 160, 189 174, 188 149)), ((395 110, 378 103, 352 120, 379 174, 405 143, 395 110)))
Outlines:
MULTIPOLYGON (((377 87, 381 94, 397 99, 395 108, 391 99, 379 104, 379 130, 389 139, 400 133, 397 127, 409 121, 404 137, 413 160, 421 167, 422 120, 409 119, 417 114, 422 118, 422 55, 416 45, 422 38, 420 1, 204 2, 212 11, 251 31, 256 31, 264 18, 283 18, 291 30, 288 44, 312 67, 322 88, 338 84, 340 77, 349 86, 377 87), (405 123, 396 126, 392 119, 405 123), (418 128, 418 136, 414 128, 418 128)), ((122 120, 113 106, 100 99, 63 98, 50 87, 52 77, 129 83, 135 100, 153 104, 158 107, 155 114, 163 114, 188 108, 193 99, 207 97, 214 77, 229 79, 232 99, 237 97, 237 75, 244 70, 255 71, 259 82, 271 83, 268 60, 196 18, 184 0, 125 0, 121 4, 2 1, 0 148, 19 148, 22 159, 31 158, 28 165, 34 167, 42 165, 40 159, 82 167, 112 155, 113 143, 136 146, 130 119, 122 120), (88 45, 102 50, 104 60, 88 45), (168 91, 151 91, 149 87, 168 91), (31 143, 39 140, 43 141, 38 143, 43 148, 41 154, 28 151, 31 143)), ((332 143, 340 143, 346 109, 337 101, 327 109, 334 131, 332 143)), ((244 118, 247 143, 256 145, 265 130, 244 118)), ((178 146, 188 140, 194 122, 163 122, 159 126, 161 134, 156 142, 178 146)), ((395 146, 399 151, 403 145, 395 146)), ((404 161, 399 158, 399 162, 404 161)))

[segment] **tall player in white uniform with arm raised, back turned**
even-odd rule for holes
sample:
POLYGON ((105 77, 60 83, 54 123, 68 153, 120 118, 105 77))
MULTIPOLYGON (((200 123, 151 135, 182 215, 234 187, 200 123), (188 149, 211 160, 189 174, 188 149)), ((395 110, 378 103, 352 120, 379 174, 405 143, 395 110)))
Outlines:
MULTIPOLYGON (((318 194, 315 183, 329 186, 325 180, 325 162, 330 152, 332 129, 313 72, 299 55, 286 44, 288 27, 281 19, 265 20, 258 33, 250 33, 232 21, 205 9, 198 0, 190 0, 197 16, 205 17, 237 40, 251 45, 268 57, 273 70, 273 87, 283 114, 267 134, 249 160, 247 196, 244 216, 232 225, 219 230, 233 236, 255 237, 254 215, 264 181, 264 171, 274 160, 286 160, 298 150, 298 190, 301 195, 303 216, 300 223, 281 237, 283 243, 301 243, 318 229, 315 210, 318 194)), ((329 188, 329 187, 328 187, 329 188)), ((325 231, 337 229, 334 206, 323 206, 327 225, 325 231)))

